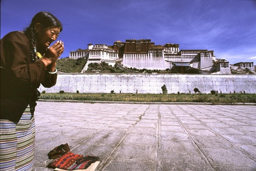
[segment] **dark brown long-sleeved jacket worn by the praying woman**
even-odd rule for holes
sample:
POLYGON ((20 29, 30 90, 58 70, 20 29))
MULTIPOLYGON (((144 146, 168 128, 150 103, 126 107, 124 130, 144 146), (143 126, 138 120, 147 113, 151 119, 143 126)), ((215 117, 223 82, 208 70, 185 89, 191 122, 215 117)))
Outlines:
MULTIPOLYGON (((0 43, 0 119, 18 122, 24 110, 31 107, 34 114, 39 88, 56 84, 57 74, 49 74, 44 62, 31 63, 29 40, 22 32, 10 32, 0 43)), ((42 48, 41 54, 46 48, 42 48)))

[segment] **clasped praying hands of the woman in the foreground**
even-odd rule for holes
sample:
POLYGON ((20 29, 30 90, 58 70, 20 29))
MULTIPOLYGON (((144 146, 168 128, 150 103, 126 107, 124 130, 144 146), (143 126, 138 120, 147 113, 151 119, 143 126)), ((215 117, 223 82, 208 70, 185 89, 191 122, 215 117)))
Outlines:
POLYGON ((64 43, 61 40, 57 41, 50 48, 48 48, 42 61, 44 62, 45 66, 49 66, 50 64, 52 64, 53 66, 56 66, 56 61, 58 58, 60 58, 60 55, 63 52, 64 52, 64 43))

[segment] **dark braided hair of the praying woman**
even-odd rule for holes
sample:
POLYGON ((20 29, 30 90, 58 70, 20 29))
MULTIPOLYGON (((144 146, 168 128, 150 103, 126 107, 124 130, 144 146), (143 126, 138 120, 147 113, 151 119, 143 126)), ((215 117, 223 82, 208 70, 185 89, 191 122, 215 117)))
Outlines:
POLYGON ((41 11, 37 13, 32 18, 32 21, 29 27, 24 29, 24 34, 28 37, 28 40, 29 40, 31 62, 35 62, 37 60, 37 55, 36 55, 37 32, 35 29, 35 24, 37 22, 41 24, 42 29, 46 29, 47 27, 60 27, 60 32, 62 31, 62 23, 51 13, 47 11, 41 11))

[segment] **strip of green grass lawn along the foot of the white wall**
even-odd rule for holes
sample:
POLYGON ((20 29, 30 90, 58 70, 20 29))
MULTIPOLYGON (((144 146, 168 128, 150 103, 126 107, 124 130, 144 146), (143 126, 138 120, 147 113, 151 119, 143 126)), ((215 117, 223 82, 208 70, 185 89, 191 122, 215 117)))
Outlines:
POLYGON ((256 94, 41 93, 39 98, 79 101, 256 103, 256 94))

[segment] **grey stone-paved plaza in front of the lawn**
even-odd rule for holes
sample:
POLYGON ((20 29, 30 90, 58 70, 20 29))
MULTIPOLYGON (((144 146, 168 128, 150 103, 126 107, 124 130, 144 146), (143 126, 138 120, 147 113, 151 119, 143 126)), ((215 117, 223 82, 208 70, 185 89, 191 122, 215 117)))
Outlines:
POLYGON ((256 170, 255 105, 37 104, 35 171, 65 143, 97 171, 256 170))

